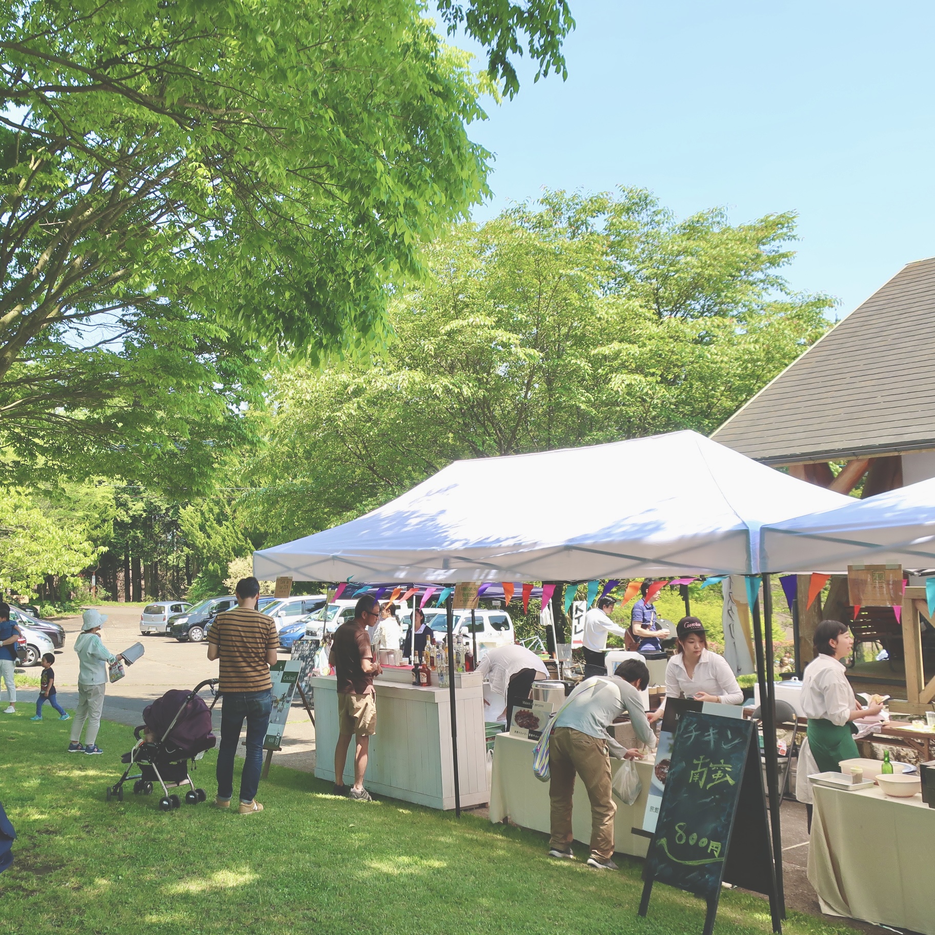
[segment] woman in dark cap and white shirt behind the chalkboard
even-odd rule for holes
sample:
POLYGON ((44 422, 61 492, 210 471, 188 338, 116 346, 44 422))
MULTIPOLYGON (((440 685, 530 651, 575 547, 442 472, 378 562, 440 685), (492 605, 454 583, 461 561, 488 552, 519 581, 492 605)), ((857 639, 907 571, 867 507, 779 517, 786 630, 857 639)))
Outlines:
MULTIPOLYGON (((666 667, 666 698, 694 698, 715 704, 741 704, 743 692, 726 660, 708 649, 704 624, 698 617, 683 617, 675 628, 677 649, 666 667)), ((658 721, 661 705, 649 715, 658 721)))

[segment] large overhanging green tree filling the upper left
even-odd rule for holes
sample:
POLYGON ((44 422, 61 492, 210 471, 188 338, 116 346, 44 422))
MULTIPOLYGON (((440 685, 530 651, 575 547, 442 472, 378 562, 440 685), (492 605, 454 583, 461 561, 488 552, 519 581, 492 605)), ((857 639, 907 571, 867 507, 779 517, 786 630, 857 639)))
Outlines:
POLYGON ((486 192, 482 89, 515 91, 523 36, 564 72, 560 0, 441 14, 491 75, 419 0, 0 0, 3 444, 191 486, 244 440, 261 349, 379 341, 486 192))

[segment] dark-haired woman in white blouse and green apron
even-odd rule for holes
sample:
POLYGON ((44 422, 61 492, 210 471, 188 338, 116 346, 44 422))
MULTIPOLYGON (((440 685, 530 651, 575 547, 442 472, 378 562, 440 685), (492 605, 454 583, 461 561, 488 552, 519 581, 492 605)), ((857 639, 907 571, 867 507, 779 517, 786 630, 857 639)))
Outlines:
POLYGON ((841 760, 860 755, 852 722, 879 714, 883 705, 861 708, 854 697, 841 662, 854 647, 847 626, 837 620, 823 620, 815 627, 812 642, 815 657, 802 677, 802 711, 809 719, 809 750, 820 772, 840 772, 841 760))

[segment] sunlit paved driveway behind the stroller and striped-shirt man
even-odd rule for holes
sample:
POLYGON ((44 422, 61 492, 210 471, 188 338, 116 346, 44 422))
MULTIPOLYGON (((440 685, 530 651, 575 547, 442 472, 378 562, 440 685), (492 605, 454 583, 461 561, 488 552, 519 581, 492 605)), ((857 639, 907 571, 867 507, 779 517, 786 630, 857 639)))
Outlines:
MULTIPOLYGON (((136 727, 143 723, 143 709, 170 688, 191 689, 199 682, 218 677, 217 662, 209 662, 207 643, 189 643, 171 637, 143 636, 139 632, 138 607, 102 607, 108 615, 101 631, 101 639, 111 653, 120 653, 135 642, 146 650, 143 657, 126 669, 126 677, 108 685, 104 700, 104 717, 108 721, 136 727)), ((75 640, 81 632, 80 616, 65 617, 59 623, 65 627, 65 648, 55 654, 55 682, 59 703, 74 711, 78 704, 78 656, 75 640)), ((286 656, 287 657, 287 656, 286 656)), ((22 669, 27 675, 38 676, 39 667, 22 669)), ((17 689, 18 703, 36 703, 38 691, 33 688, 17 689)), ((210 698, 205 689, 202 697, 210 698)), ((46 716, 55 712, 48 705, 46 716)), ((220 736, 221 707, 213 712, 214 731, 220 736)), ((242 746, 238 749, 242 755, 242 746)), ((315 769, 315 728, 301 705, 289 713, 286 732, 282 738, 281 753, 274 754, 274 762, 294 770, 313 772, 315 769)))

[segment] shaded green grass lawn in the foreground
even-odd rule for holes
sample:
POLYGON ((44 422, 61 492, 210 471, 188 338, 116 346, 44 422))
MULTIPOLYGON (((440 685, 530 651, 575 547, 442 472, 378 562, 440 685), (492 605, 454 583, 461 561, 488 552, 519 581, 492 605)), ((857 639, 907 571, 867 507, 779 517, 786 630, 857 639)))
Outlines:
MULTIPOLYGON (((704 903, 664 885, 654 888, 649 917, 637 916, 639 860, 623 859, 620 872, 554 861, 543 835, 336 798, 329 785, 275 765, 260 786, 262 814, 210 804, 213 754, 195 774, 208 803, 162 813, 155 795, 129 787, 124 802, 108 803, 130 728, 105 722, 104 755, 68 755, 71 725, 32 723, 29 713, 24 706, 0 720, 0 796, 19 834, 16 862, 0 875, 5 932, 700 935, 703 927, 704 903)), ((767 902, 725 892, 715 931, 769 932, 767 902)), ((791 915, 784 931, 852 929, 791 915)))

